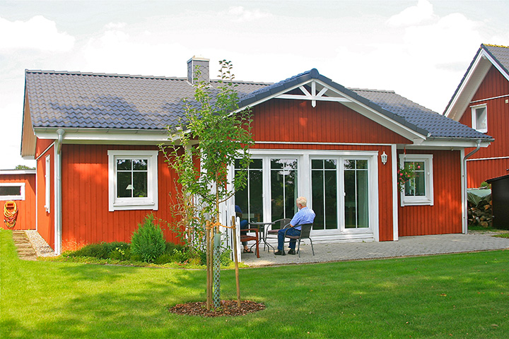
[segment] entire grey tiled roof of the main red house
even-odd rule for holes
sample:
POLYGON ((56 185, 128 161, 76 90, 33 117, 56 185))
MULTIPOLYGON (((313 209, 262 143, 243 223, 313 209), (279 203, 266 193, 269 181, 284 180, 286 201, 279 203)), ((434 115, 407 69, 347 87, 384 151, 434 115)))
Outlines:
MULTIPOLYGON (((194 88, 187 78, 57 71, 26 71, 25 77, 35 128, 164 129, 182 117, 184 98, 193 103, 194 88)), ((235 81, 239 106, 247 107, 311 78, 425 136, 491 138, 392 91, 345 88, 316 69, 274 84, 235 81)), ((211 85, 216 88, 218 82, 211 85)))

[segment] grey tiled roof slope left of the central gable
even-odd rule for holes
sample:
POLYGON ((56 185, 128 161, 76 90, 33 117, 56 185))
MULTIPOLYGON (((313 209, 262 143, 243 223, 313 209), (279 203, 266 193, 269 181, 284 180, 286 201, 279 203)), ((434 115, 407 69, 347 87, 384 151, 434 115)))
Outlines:
MULTIPOLYGON (((26 71, 25 84, 36 128, 164 129, 194 96, 187 78, 26 71)), ((235 84, 240 94, 266 85, 235 84)))

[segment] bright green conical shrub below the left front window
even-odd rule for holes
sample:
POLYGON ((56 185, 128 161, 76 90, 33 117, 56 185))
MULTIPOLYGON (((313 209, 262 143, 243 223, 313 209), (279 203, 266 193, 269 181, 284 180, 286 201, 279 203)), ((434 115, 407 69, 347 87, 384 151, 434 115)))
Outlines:
POLYGON ((153 263, 165 249, 163 231, 154 223, 153 214, 149 214, 145 217, 144 225, 139 224, 138 230, 131 237, 131 254, 139 255, 142 261, 153 263))

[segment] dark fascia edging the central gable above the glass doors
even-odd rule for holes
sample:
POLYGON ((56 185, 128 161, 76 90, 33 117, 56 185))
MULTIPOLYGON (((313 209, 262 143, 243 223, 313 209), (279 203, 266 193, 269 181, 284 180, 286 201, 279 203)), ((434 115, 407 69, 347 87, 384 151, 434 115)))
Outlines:
POLYGON ((362 97, 361 95, 358 95, 357 93, 353 92, 352 90, 349 90, 348 88, 344 87, 343 85, 339 85, 339 83, 335 83, 334 81, 327 78, 326 76, 322 76, 322 74, 320 74, 317 71, 317 69, 311 69, 310 71, 301 73, 298 76, 289 78, 288 81, 281 81, 281 83, 275 83, 274 85, 271 85, 267 88, 263 88, 263 89, 259 90, 259 93, 257 93, 257 95, 248 97, 245 100, 240 100, 239 107, 240 107, 240 109, 243 109, 245 107, 250 106, 254 102, 262 101, 262 100, 266 99, 267 97, 270 97, 271 95, 276 95, 277 93, 281 93, 284 90, 296 88, 298 85, 300 85, 302 83, 306 83, 312 79, 316 79, 326 85, 329 85, 329 87, 334 88, 335 90, 338 90, 339 92, 343 93, 344 95, 351 97, 353 100, 361 102, 363 105, 368 106, 371 109, 384 115, 385 117, 396 121, 398 124, 402 124, 403 126, 406 126, 407 128, 415 131, 416 133, 419 133, 425 137, 427 137, 429 135, 429 132, 426 131, 426 129, 421 129, 418 126, 411 124, 409 121, 406 121, 406 119, 399 117, 397 114, 394 114, 394 113, 388 111, 387 109, 384 109, 384 108, 380 107, 379 105, 375 104, 375 102, 371 102, 370 100, 366 99, 365 97, 362 97))

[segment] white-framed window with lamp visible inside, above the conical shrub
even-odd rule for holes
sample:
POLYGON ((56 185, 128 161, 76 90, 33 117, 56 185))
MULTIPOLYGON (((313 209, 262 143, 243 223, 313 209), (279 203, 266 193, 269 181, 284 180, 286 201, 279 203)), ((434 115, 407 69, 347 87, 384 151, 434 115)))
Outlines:
POLYGON ((158 151, 108 150, 108 202, 112 210, 158 209, 158 151))

